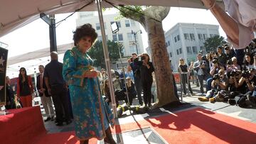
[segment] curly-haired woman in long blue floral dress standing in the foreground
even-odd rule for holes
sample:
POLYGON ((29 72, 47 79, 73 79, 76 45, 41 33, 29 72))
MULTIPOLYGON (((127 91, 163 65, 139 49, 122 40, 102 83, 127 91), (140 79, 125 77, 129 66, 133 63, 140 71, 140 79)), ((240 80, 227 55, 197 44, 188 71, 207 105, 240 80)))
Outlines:
POLYGON ((76 29, 73 35, 75 47, 65 52, 63 77, 68 82, 75 121, 75 135, 80 143, 90 138, 115 143, 110 131, 114 124, 112 112, 102 100, 97 72, 87 50, 97 38, 95 29, 87 23, 76 29))

